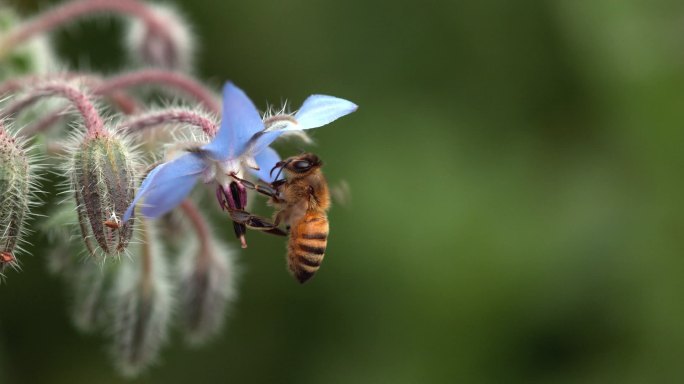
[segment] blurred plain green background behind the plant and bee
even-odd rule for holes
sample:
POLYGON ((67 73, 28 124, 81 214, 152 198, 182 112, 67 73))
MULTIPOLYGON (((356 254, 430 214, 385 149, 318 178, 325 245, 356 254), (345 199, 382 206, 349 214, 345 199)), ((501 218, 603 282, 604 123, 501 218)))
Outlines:
MULTIPOLYGON (((222 335, 175 334, 136 382, 684 380, 684 2, 176 4, 210 84, 360 106, 312 148, 351 203, 303 286, 251 234, 222 335)), ((114 73, 121 29, 56 42, 114 73)), ((0 382, 120 382, 35 242, 0 289, 0 382)))

